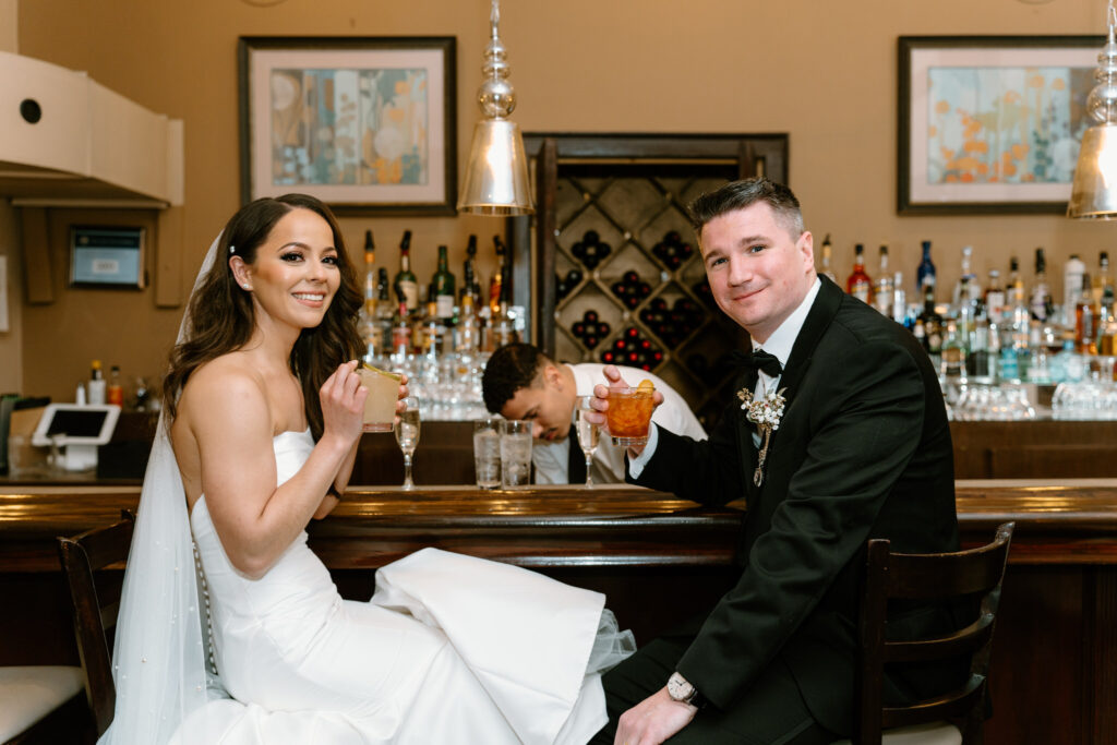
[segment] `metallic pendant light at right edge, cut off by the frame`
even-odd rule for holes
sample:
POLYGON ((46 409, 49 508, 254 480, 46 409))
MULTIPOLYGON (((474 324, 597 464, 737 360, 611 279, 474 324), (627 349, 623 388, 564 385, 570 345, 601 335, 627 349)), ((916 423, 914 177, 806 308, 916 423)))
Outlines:
POLYGON ((1080 220, 1117 219, 1117 11, 1113 0, 1106 13, 1109 37, 1098 55, 1094 79, 1098 85, 1086 101, 1095 124, 1082 135, 1075 166, 1075 184, 1067 217, 1080 220))

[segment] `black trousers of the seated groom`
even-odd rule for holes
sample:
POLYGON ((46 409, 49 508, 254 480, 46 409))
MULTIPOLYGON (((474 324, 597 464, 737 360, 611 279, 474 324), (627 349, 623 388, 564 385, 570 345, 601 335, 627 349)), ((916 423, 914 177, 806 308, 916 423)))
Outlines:
MULTIPOLYGON (((609 724, 592 745, 612 745, 617 720, 665 685, 693 636, 678 634, 652 641, 604 675, 609 724)), ((729 710, 713 705, 700 709, 671 745, 829 745, 839 736, 811 716, 791 670, 776 658, 748 693, 729 710)))

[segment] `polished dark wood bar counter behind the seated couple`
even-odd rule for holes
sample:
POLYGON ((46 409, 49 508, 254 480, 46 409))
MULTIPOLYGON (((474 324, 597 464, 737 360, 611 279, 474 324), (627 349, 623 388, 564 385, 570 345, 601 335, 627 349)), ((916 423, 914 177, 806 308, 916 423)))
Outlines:
MULTIPOLYGON (((1016 523, 986 743, 1117 745, 1117 479, 961 480, 956 490, 964 544, 1016 523)), ((139 494, 0 486, 0 663, 76 660, 54 536, 113 522, 139 494)), ((743 508, 632 486, 353 487, 309 534, 346 598, 371 595, 371 570, 437 546, 602 591, 646 642, 732 586, 743 508)))

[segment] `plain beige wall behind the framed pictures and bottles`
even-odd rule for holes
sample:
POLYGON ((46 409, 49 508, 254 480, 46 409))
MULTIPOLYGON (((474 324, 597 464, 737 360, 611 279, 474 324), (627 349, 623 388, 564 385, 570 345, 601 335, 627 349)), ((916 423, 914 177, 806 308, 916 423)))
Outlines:
MULTIPOLYGON (((192 276, 206 247, 238 207, 236 42, 259 36, 456 36, 458 147, 465 157, 480 79, 484 0, 34 0, 19 13, 20 51, 75 69, 185 121, 187 229, 192 276)), ((505 0, 502 36, 526 131, 789 132, 791 185, 808 227, 830 232, 836 269, 855 242, 887 242, 913 276, 930 239, 942 281, 953 285, 963 245, 975 269, 1006 268, 1044 246, 1058 274, 1067 255, 1092 267, 1117 250, 1117 225, 1052 216, 900 218, 896 189, 896 37, 957 34, 1098 34, 1100 0, 505 0)), ((484 218, 343 221, 351 242, 373 228, 379 256, 395 264, 404 228, 416 236, 417 274, 430 276, 436 247, 460 266, 469 232, 483 246, 500 228, 484 218)), ((359 242, 356 245, 360 245, 359 242)), ((486 256, 486 259, 488 257, 486 256)), ((894 262, 896 259, 894 259, 894 262)), ((870 261, 870 269, 876 264, 870 261)), ((1025 262, 1030 267, 1030 259, 1025 262)), ((487 279, 488 267, 483 267, 487 279)), ((63 269, 56 266, 56 273, 63 269)), ((393 269, 394 270, 394 269, 393 269)), ((1056 280, 1059 290, 1059 280, 1056 280)), ((66 290, 54 306, 25 307, 28 392, 69 397, 88 361, 155 374, 180 311, 157 311, 152 293, 66 290)), ((0 344, 3 342, 0 341, 0 344)), ((2 353, 0 347, 0 353, 2 353)))

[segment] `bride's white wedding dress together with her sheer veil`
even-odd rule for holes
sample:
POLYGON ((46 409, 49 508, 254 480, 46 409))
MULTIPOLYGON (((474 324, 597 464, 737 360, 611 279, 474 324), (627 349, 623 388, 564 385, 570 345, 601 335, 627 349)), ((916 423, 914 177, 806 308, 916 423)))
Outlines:
MULTIPOLYGON (((188 312, 179 342, 191 323, 188 312)), ((313 446, 308 432, 275 439, 279 481, 313 446)), ((634 648, 602 603, 435 550, 382 567, 369 603, 344 601, 305 533, 248 580, 204 496, 188 514, 164 412, 124 574, 115 717, 98 745, 582 742, 604 722, 596 671, 634 648)))

